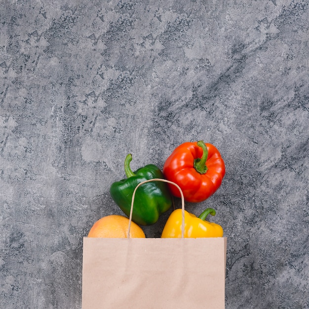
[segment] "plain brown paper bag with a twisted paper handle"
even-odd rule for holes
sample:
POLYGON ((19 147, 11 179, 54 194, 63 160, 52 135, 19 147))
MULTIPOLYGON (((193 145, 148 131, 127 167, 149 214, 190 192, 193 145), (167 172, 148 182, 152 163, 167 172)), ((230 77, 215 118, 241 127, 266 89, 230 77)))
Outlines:
POLYGON ((82 309, 224 309, 226 249, 226 237, 84 237, 82 309))

